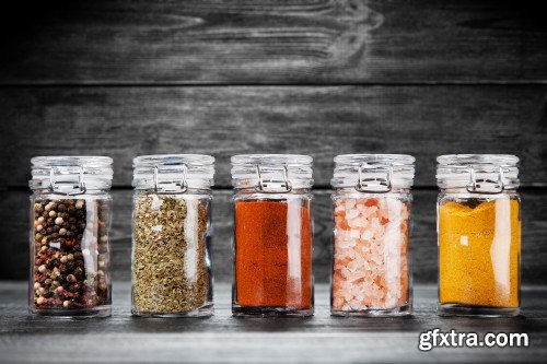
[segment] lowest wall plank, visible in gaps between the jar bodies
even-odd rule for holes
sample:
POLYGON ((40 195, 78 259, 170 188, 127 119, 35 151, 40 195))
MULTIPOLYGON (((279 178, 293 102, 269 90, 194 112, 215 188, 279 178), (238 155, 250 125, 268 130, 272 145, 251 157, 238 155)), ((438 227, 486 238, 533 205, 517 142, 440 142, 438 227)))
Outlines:
MULTIPOLYGON (((131 251, 131 190, 115 190, 114 222, 110 235, 113 251, 113 277, 130 280, 131 251)), ((0 280, 26 280, 28 258, 28 193, 24 191, 0 192, 0 280)), ((414 278, 416 282, 437 282, 437 191, 414 191, 412 254, 414 278)), ((523 243, 522 282, 545 284, 547 281, 547 190, 524 191, 523 198, 523 243)), ((317 282, 328 282, 331 262, 331 204, 330 192, 315 191, 313 214, 314 275, 317 282)), ((212 259, 213 274, 218 282, 232 280, 232 192, 214 191, 212 207, 212 259)))

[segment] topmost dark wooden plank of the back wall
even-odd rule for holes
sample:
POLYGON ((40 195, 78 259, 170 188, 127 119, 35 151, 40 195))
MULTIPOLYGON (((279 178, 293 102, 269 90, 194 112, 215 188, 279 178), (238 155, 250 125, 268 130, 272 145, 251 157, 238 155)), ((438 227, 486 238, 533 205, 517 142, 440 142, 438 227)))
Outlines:
POLYGON ((1 17, 0 83, 545 82, 532 0, 54 1, 1 17))

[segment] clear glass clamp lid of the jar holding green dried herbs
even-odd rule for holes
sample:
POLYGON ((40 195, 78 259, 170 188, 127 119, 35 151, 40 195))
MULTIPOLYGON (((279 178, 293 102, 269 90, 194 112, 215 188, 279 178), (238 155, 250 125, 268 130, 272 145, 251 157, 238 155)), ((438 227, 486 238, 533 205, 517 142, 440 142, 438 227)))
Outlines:
POLYGON ((133 158, 136 189, 183 193, 190 189, 209 189, 213 185, 214 157, 205 154, 156 154, 133 158))

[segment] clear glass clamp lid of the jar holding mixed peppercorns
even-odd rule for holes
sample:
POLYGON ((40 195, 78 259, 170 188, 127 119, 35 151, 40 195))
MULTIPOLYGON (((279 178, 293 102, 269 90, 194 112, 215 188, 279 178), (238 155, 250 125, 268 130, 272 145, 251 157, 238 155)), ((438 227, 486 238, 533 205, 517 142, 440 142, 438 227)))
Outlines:
POLYGON ((109 156, 35 156, 31 160, 33 190, 60 195, 83 195, 88 190, 112 187, 113 160, 109 156))

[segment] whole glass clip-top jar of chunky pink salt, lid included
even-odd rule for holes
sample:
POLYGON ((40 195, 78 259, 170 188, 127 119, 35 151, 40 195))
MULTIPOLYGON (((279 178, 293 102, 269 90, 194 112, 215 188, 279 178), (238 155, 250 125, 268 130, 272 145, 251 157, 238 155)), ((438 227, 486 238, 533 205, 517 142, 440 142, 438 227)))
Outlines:
POLYGON ((330 313, 397 316, 412 309, 410 187, 415 157, 335 157, 330 313))

